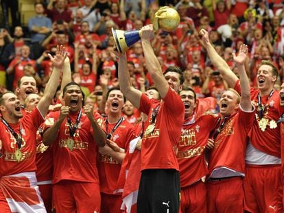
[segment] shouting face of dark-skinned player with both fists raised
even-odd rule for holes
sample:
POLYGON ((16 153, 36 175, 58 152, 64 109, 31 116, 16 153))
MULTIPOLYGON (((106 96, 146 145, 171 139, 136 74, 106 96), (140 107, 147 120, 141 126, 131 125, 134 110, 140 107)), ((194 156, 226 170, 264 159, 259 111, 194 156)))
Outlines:
POLYGON ((83 95, 80 87, 77 85, 68 86, 63 99, 65 105, 70 107, 71 112, 77 112, 82 108, 83 95))

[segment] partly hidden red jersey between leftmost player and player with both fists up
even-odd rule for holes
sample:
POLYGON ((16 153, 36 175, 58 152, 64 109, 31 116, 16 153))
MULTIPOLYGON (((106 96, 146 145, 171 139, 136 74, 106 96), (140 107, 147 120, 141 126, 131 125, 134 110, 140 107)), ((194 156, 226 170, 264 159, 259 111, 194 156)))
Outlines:
POLYGON ((36 131, 36 179, 38 179, 38 182, 50 181, 54 171, 52 148, 43 144, 42 136, 43 129, 40 127, 36 131))

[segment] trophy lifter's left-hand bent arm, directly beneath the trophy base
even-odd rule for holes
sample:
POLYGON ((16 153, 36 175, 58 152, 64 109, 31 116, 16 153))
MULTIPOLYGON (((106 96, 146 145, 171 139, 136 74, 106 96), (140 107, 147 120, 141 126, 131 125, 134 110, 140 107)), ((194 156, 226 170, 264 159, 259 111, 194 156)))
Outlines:
POLYGON ((135 89, 130 82, 130 75, 127 67, 126 53, 117 53, 119 57, 118 62, 118 77, 119 88, 123 95, 128 99, 137 109, 140 107, 140 99, 142 92, 135 89))

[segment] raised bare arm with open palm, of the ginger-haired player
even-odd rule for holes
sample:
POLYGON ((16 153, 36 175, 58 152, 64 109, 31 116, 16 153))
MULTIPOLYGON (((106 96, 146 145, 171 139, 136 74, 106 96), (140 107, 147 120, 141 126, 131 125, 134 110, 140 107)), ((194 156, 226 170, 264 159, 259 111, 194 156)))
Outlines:
POLYGON ((239 72, 239 82, 241 86, 240 105, 243 110, 251 111, 252 103, 250 101, 250 82, 248 81, 248 75, 246 75, 245 69, 246 55, 248 55, 247 45, 241 45, 237 56, 233 53, 234 62, 239 72))

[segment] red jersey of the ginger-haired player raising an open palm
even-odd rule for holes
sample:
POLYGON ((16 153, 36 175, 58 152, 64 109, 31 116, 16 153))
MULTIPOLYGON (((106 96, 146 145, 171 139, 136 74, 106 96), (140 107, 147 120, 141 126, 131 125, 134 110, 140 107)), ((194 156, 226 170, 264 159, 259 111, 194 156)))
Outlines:
POLYGON ((239 112, 222 119, 220 126, 224 122, 220 134, 215 138, 215 147, 211 151, 209 158, 209 174, 215 168, 225 166, 239 173, 245 173, 246 137, 252 128, 254 112, 239 112))

